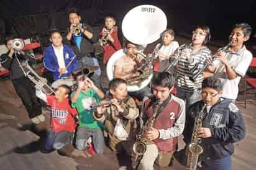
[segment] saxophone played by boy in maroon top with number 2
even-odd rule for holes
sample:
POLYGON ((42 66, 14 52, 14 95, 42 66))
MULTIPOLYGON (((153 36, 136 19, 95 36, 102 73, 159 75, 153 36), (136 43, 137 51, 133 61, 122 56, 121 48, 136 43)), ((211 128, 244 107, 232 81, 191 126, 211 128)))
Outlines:
MULTIPOLYGON (((145 123, 141 133, 137 136, 137 140, 135 141, 132 147, 132 151, 134 152, 134 156, 132 158, 132 168, 134 169, 138 168, 140 164, 140 160, 142 159, 144 153, 147 151, 147 145, 150 145, 153 143, 153 141, 148 140, 147 138, 144 138, 144 135, 145 135, 145 132, 152 130, 153 123, 155 122, 157 111, 158 111, 158 105, 159 105, 158 99, 154 105, 155 107, 153 107, 152 117, 145 123)), ((142 110, 143 109, 144 108, 142 108, 142 110)))

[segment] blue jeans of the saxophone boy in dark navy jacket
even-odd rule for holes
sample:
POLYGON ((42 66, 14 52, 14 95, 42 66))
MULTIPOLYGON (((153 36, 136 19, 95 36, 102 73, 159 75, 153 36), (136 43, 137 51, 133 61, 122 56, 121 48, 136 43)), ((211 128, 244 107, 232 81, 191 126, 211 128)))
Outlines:
POLYGON ((231 156, 214 160, 206 159, 201 164, 200 170, 231 170, 232 168, 231 156))

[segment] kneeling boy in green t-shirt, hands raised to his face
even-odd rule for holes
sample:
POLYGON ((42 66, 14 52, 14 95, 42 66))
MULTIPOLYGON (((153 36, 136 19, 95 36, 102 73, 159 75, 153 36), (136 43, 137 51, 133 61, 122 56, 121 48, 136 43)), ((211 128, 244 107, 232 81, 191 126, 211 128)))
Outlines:
POLYGON ((103 123, 94 120, 93 110, 85 106, 99 102, 104 98, 104 93, 94 85, 91 79, 84 76, 82 71, 76 73, 75 79, 78 87, 71 94, 71 106, 76 108, 79 115, 76 148, 78 150, 85 150, 86 146, 89 145, 88 140, 91 137, 96 153, 103 154, 105 148, 104 136, 101 131, 103 123))

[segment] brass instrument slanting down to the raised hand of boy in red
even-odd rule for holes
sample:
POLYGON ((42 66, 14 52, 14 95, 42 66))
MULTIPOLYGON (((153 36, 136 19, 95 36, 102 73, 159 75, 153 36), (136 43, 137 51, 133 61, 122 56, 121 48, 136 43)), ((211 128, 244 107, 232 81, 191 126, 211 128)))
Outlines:
POLYGON ((42 90, 45 94, 54 93, 52 87, 48 86, 48 84, 45 81, 43 81, 43 79, 34 71, 34 69, 31 68, 31 66, 28 63, 28 60, 25 60, 22 63, 20 63, 20 66, 22 70, 24 70, 25 76, 35 84, 35 89, 42 90), (24 68, 27 69, 27 72, 24 68), (32 73, 32 75, 30 75, 30 73, 32 73))

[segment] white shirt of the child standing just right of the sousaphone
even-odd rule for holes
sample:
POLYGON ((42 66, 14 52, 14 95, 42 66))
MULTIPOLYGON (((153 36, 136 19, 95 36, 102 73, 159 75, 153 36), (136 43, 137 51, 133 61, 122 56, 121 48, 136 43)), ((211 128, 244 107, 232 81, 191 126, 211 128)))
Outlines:
MULTIPOLYGON (((162 43, 158 43, 157 46, 155 47, 154 51, 158 50, 161 44, 162 43)), ((159 49, 159 51, 161 51, 164 55, 171 56, 178 47, 179 47, 178 42, 172 41, 167 46, 162 45, 162 47, 159 49)), ((165 60, 165 58, 162 58, 159 56, 159 60, 165 60)))

